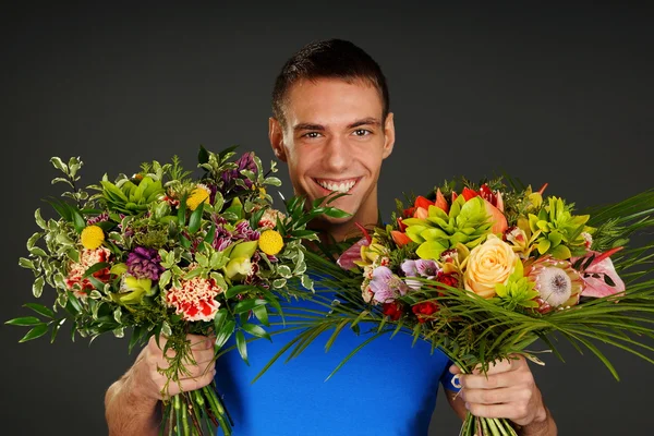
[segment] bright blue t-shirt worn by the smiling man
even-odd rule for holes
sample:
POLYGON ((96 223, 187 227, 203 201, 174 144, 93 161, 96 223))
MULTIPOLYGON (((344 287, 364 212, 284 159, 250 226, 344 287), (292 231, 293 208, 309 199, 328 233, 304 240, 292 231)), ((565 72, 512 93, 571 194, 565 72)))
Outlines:
MULTIPOLYGON (((293 306, 311 304, 295 302, 293 306)), ((344 328, 325 352, 334 331, 327 330, 288 363, 287 351, 254 384, 251 382, 259 371, 300 330, 275 335, 272 342, 250 342, 250 366, 235 350, 220 356, 216 383, 234 421, 233 435, 425 436, 439 383, 458 390, 448 371, 451 362, 439 350, 432 353, 429 343, 419 340, 411 347, 410 335, 398 334, 392 339, 390 334, 382 336, 325 380, 343 358, 370 338, 366 330, 361 325, 356 336, 344 328)), ((231 340, 226 347, 230 346, 231 340)))

